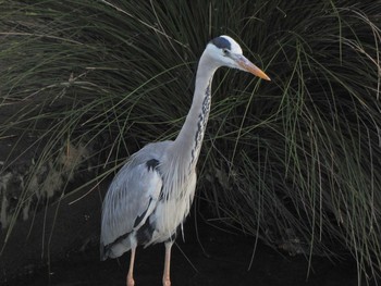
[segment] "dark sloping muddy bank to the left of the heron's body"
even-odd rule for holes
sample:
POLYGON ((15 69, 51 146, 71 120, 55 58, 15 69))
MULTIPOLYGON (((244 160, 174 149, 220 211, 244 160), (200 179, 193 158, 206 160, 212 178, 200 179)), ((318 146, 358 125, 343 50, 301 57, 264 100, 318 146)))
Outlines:
POLYGON ((34 274, 52 261, 65 259, 70 252, 96 244, 105 189, 100 185, 89 194, 89 189, 83 189, 62 197, 28 220, 20 220, 9 237, 3 229, 0 282, 34 274))

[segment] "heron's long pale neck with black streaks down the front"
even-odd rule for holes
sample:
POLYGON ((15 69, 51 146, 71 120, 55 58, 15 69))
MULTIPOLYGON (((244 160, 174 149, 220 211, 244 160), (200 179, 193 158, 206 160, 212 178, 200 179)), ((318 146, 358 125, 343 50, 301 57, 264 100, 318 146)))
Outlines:
POLYGON ((210 103, 211 103, 211 82, 217 67, 208 57, 201 57, 197 74, 195 94, 190 110, 186 116, 185 123, 174 141, 177 151, 186 158, 184 162, 194 167, 197 163, 200 152, 205 129, 207 126, 210 103))

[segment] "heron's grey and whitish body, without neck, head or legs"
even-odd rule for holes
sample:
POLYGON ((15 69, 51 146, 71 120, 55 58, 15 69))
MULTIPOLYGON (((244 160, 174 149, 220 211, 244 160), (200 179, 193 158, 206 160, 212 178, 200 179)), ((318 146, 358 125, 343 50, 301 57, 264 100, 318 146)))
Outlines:
POLYGON ((137 245, 148 246, 171 239, 188 214, 196 172, 195 169, 188 170, 189 174, 184 176, 179 167, 171 167, 179 165, 170 163, 171 148, 174 148, 173 141, 147 145, 133 154, 115 176, 110 186, 114 191, 107 194, 103 206, 102 259, 120 257, 137 245), (168 182, 168 170, 172 169, 176 173, 173 175, 184 177, 180 184, 168 182), (171 191, 174 187, 179 191, 171 191))

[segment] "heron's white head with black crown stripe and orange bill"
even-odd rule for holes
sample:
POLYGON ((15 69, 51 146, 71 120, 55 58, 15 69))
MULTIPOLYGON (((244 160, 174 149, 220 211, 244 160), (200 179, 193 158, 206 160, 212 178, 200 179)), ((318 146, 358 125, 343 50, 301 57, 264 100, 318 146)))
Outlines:
POLYGON ((213 60, 221 66, 238 69, 266 80, 271 80, 267 74, 243 55, 241 46, 229 36, 223 35, 212 39, 207 49, 213 60))

